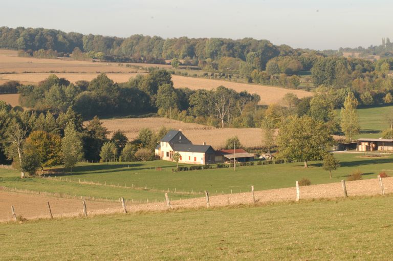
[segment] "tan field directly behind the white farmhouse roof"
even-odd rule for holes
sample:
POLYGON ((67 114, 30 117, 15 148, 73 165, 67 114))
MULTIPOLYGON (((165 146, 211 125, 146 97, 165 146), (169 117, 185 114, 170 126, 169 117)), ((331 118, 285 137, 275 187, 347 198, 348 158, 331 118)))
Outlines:
POLYGON ((224 147, 228 138, 236 135, 246 147, 262 145, 262 131, 259 128, 214 128, 197 123, 169 120, 167 118, 108 119, 101 121, 112 133, 118 129, 122 130, 129 140, 135 139, 142 128, 151 128, 157 132, 161 126, 164 126, 176 130, 181 129, 193 144, 206 142, 206 144, 214 148, 221 148, 224 147))

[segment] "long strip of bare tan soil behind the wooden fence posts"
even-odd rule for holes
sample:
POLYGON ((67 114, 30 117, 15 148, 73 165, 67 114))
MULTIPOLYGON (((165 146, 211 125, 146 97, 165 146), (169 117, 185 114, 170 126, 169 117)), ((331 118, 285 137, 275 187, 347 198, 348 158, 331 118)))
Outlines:
MULTIPOLYGON (((383 185, 385 193, 393 192, 393 177, 384 178, 383 185)), ((378 179, 360 180, 346 182, 348 196, 376 195, 381 193, 378 179)), ((257 189, 257 187, 256 187, 257 189)), ((170 194, 169 194, 170 197, 170 194)), ((321 184, 300 187, 300 199, 321 199, 343 197, 341 183, 321 184)), ((294 201, 296 188, 281 188, 255 191, 255 199, 258 203, 294 201)), ((51 203, 52 212, 55 217, 78 216, 82 213, 82 202, 76 199, 62 199, 46 197, 36 194, 23 194, 16 192, 0 191, 0 221, 12 220, 11 205, 15 207, 17 215, 27 219, 48 217, 47 201, 51 203)), ((211 206, 226 206, 235 204, 250 204, 252 197, 250 192, 215 195, 210 197, 211 206)), ((97 201, 86 201, 88 214, 105 214, 121 212, 120 203, 106 203, 97 201)), ((172 208, 195 208, 206 206, 205 197, 177 200, 171 202, 172 208)), ((157 211, 166 210, 165 202, 149 204, 128 204, 129 212, 135 211, 157 211)))

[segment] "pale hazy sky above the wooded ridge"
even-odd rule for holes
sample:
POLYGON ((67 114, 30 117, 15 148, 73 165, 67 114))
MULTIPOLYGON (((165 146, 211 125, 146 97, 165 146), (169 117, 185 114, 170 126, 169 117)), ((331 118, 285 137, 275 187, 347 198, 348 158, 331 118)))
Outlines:
MULTIPOLYGON (((2 1, 3 2, 3 1, 2 1)), ((294 48, 338 49, 393 39, 393 1, 21 0, 4 1, 0 26, 127 37, 268 39, 294 48)))

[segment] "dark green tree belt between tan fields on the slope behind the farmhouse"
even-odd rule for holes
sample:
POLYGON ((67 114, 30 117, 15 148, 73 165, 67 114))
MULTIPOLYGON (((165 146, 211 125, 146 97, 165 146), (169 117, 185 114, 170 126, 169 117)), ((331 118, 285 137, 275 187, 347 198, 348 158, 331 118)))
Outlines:
POLYGON ((83 118, 158 112, 171 119, 222 127, 253 127, 260 100, 256 94, 237 93, 224 86, 212 91, 174 89, 171 75, 164 70, 153 70, 123 84, 105 74, 75 84, 51 75, 37 86, 19 86, 18 90, 22 106, 41 112, 61 114, 71 109, 83 118))

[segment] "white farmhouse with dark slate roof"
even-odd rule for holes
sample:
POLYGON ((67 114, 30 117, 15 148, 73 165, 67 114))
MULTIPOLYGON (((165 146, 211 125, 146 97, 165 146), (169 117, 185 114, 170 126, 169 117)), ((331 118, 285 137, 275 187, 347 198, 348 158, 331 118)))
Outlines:
POLYGON ((194 145, 179 130, 170 130, 155 149, 155 154, 162 160, 172 161, 173 154, 179 153, 181 163, 213 164, 215 151, 210 145, 194 145))

